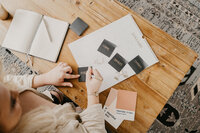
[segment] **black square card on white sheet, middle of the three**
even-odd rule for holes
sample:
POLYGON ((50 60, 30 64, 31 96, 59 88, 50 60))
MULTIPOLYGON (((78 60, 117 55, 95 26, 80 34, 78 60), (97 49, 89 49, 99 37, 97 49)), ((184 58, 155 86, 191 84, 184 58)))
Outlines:
POLYGON ((120 72, 126 65, 127 61, 118 53, 108 62, 115 70, 120 72))

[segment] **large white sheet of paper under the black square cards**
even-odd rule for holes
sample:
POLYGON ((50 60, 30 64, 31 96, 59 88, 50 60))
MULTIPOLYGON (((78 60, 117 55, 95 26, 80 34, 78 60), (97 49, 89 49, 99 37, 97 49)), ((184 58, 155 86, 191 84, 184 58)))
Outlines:
POLYGON ((99 92, 102 92, 136 74, 128 63, 120 72, 108 64, 116 53, 124 57, 127 62, 139 55, 146 62, 147 67, 158 62, 148 42, 142 36, 134 19, 128 14, 72 42, 69 44, 69 48, 79 67, 94 66, 101 73, 104 80, 99 92), (116 45, 110 57, 97 51, 104 39, 116 45))

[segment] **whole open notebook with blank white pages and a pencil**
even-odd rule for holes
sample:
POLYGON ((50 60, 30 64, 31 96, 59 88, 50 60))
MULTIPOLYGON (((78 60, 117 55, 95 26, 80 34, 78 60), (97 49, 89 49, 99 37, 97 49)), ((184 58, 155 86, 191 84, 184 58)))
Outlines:
POLYGON ((56 62, 69 23, 18 9, 2 46, 56 62))

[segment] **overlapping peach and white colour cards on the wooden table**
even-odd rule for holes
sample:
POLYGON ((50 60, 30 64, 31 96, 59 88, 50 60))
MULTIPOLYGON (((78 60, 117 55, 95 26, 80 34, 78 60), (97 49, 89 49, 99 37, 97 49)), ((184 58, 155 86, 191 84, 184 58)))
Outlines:
POLYGON ((136 92, 111 88, 103 108, 105 120, 116 129, 123 120, 134 121, 136 99, 136 92))

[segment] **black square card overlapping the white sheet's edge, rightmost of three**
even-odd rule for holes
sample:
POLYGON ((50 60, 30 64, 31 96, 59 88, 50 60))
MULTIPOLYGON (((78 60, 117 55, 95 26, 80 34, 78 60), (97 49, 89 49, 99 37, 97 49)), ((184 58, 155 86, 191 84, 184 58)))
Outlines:
POLYGON ((148 66, 147 63, 139 55, 132 59, 128 64, 136 74, 140 73, 148 66))

